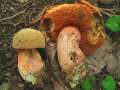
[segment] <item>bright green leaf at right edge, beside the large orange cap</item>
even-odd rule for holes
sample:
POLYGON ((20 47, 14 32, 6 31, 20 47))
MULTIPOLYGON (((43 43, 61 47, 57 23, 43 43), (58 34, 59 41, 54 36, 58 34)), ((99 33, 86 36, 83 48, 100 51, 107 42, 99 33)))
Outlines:
POLYGON ((106 21, 105 26, 112 32, 120 32, 120 15, 111 16, 106 21))

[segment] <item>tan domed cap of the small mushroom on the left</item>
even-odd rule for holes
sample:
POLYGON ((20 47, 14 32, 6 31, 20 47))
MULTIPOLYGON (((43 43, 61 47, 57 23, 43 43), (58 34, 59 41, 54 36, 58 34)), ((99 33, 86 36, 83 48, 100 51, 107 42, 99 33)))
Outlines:
POLYGON ((16 49, 45 48, 45 38, 40 31, 24 28, 14 35, 12 46, 16 49))

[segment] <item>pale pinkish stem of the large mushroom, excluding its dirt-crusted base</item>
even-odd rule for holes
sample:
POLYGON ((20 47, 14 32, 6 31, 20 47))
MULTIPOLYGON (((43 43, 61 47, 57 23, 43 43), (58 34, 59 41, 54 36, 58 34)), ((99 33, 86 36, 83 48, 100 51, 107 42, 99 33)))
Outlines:
POLYGON ((79 48, 81 35, 75 27, 65 27, 57 40, 59 63, 64 72, 71 72, 72 68, 83 63, 85 55, 79 48))

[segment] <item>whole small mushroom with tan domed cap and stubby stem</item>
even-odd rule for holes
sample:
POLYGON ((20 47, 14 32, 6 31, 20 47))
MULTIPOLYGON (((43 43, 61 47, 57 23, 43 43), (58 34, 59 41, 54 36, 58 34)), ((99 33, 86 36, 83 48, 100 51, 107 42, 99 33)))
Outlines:
POLYGON ((33 85, 41 84, 45 64, 37 48, 45 48, 45 38, 40 31, 24 28, 13 37, 12 47, 18 49, 18 70, 22 78, 33 85))

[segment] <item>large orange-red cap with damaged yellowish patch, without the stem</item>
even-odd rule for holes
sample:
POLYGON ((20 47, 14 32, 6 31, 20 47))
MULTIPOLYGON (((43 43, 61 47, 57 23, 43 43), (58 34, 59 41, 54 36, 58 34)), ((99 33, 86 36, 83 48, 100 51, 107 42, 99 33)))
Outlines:
POLYGON ((81 33, 80 48, 85 55, 89 55, 95 52, 105 39, 104 28, 100 20, 102 20, 100 12, 84 3, 62 4, 44 13, 41 27, 48 29, 54 40, 57 40, 64 27, 77 27, 81 33), (93 17, 97 19, 92 20, 93 17), (94 33, 98 34, 94 37, 94 33))

